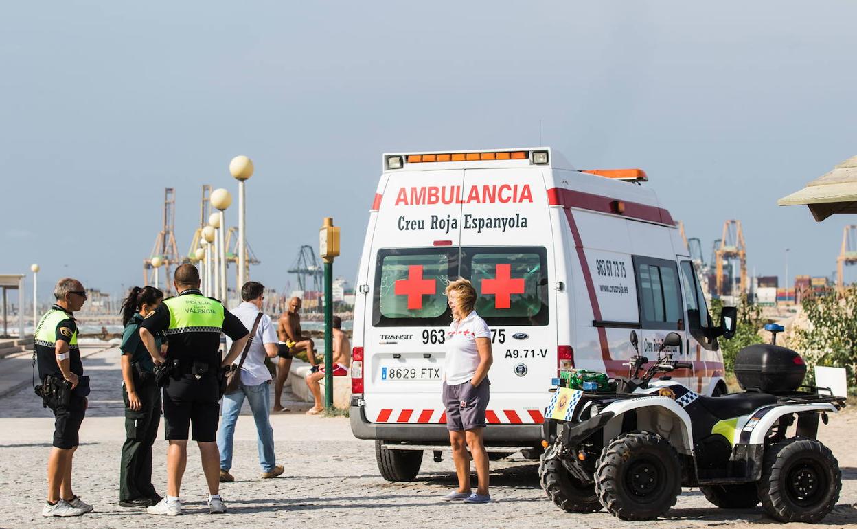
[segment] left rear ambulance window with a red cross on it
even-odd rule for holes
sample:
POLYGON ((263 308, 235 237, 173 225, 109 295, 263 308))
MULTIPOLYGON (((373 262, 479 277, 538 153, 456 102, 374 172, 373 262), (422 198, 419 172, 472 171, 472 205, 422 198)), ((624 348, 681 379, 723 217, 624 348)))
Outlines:
POLYGON ((443 291, 458 276, 458 249, 382 249, 375 273, 375 327, 446 327, 443 291))

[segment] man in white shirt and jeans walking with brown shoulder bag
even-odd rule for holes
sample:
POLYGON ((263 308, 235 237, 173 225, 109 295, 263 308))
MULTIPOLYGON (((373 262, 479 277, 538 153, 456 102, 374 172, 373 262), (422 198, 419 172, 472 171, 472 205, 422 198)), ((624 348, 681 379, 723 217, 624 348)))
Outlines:
MULTIPOLYGON (((256 316, 261 312, 262 300, 265 299, 265 286, 255 281, 248 281, 241 287, 243 303, 238 305, 232 314, 238 316, 244 327, 252 329, 256 316)), ((259 465, 261 478, 276 478, 283 473, 283 466, 277 465, 273 451, 273 428, 271 427, 271 372, 265 366, 265 357, 277 358, 277 333, 271 324, 271 318, 262 314, 256 333, 247 352, 247 358, 241 366, 241 389, 235 393, 223 396, 223 419, 217 434, 217 444, 220 448, 220 482, 230 483, 235 478, 229 473, 232 467, 232 438, 235 435, 235 424, 244 399, 249 400, 250 410, 256 423, 256 433, 259 436, 259 465)), ((239 356, 237 361, 240 362, 239 356)))

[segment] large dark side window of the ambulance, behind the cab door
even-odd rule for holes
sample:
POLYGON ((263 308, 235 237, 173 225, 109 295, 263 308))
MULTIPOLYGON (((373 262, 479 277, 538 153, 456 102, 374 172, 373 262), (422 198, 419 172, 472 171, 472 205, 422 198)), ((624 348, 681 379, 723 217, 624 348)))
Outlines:
POLYGON ((682 330, 684 310, 674 261, 638 255, 633 261, 642 327, 682 330))

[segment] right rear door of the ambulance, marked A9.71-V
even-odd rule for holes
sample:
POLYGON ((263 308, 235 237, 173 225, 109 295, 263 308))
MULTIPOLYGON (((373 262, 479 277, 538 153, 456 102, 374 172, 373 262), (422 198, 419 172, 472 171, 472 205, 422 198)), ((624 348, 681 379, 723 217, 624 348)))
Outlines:
POLYGON ((461 270, 476 288, 476 313, 491 329, 494 353, 488 423, 540 422, 557 372, 554 249, 543 171, 464 171, 461 270))

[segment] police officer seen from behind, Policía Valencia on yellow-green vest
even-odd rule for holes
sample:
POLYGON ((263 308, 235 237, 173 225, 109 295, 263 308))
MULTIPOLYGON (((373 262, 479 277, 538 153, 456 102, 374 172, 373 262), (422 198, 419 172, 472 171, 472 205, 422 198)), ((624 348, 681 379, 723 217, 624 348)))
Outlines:
MULTIPOLYGON (((188 436, 193 425, 193 440, 200 447, 202 470, 208 484, 208 512, 220 514, 226 507, 219 495, 220 454, 217 430, 220 418, 220 380, 222 366, 243 351, 249 332, 237 316, 220 302, 200 292, 200 273, 195 266, 183 264, 173 281, 178 296, 167 298, 140 324, 140 337, 155 364, 164 364, 170 372, 164 388, 164 419, 167 441, 167 496, 147 507, 149 514, 182 514, 179 490, 188 459, 188 436), (165 331, 166 358, 155 342, 155 334, 165 331), (234 340, 225 358, 220 357, 220 334, 234 340)), ((163 369, 163 368, 159 368, 163 369)))

